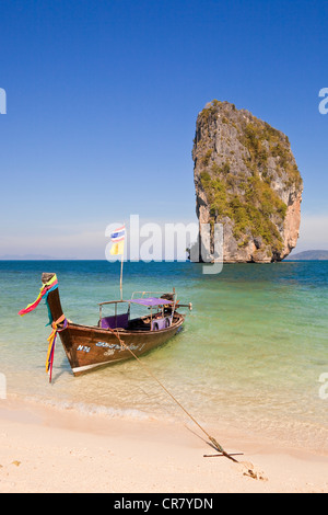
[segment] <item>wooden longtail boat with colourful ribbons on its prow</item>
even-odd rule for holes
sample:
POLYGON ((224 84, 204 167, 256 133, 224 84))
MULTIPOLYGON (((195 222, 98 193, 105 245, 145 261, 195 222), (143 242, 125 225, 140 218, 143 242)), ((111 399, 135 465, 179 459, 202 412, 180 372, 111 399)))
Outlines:
POLYGON ((23 316, 44 298, 49 311, 52 332, 48 337, 49 347, 46 369, 51 381, 56 336, 59 334, 74 376, 104 367, 124 359, 138 357, 172 339, 183 328, 185 316, 177 312, 180 305, 175 290, 153 296, 151 291, 134 293, 128 300, 99 302, 99 319, 96 325, 82 325, 70 321, 62 311, 56 274, 42 275, 43 287, 37 299, 21 310, 23 316), (136 297, 136 294, 141 294, 136 297), (110 305, 115 313, 103 316, 103 308, 110 305), (150 312, 131 318, 131 306, 143 306, 150 312), (118 313, 118 307, 124 308, 118 313))

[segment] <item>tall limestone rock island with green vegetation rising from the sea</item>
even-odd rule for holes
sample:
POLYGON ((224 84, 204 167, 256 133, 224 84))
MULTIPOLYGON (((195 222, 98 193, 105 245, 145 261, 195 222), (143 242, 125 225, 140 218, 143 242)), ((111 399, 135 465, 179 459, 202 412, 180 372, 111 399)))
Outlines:
POLYGON ((197 117, 192 159, 197 216, 223 225, 225 262, 280 261, 294 249, 303 182, 283 133, 214 100, 197 117))

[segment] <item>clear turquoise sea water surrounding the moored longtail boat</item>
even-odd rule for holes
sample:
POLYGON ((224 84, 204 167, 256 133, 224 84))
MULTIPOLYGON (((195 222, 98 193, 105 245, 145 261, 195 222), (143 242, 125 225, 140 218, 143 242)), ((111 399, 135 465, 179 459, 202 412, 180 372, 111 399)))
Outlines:
MULTIPOLYGON (((66 316, 96 324, 97 302, 119 298, 119 263, 0 261, 0 373, 8 397, 108 416, 180 420, 184 413, 131 359, 73 377, 60 341, 51 385, 45 371, 47 308, 35 300, 42 272, 55 272, 66 316)), ((226 264, 125 263, 124 297, 176 288, 192 302, 185 329, 143 363, 202 424, 279 437, 328 453, 328 262, 226 264), (211 265, 209 265, 211 266, 211 265)), ((1 399, 0 399, 1 402, 1 399)))

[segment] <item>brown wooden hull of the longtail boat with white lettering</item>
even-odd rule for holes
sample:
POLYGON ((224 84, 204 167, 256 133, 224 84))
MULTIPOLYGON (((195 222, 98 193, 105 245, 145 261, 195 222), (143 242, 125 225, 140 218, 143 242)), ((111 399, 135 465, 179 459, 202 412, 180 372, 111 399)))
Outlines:
POLYGON ((183 327, 184 316, 176 313, 174 323, 162 331, 108 331, 69 323, 59 333, 74 376, 124 359, 140 356, 171 340, 183 327), (119 337, 124 342, 120 343, 119 337), (131 352, 130 352, 131 351, 131 352), (132 354, 133 353, 133 354, 132 354))

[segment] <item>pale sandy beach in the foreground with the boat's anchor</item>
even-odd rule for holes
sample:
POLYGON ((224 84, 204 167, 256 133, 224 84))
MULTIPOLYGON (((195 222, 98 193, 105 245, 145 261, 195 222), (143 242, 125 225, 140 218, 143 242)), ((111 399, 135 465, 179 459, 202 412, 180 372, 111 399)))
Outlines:
POLYGON ((0 424, 1 493, 328 492, 327 451, 272 448, 220 428, 211 431, 221 445, 244 453, 238 464, 203 457, 213 453, 204 440, 156 420, 2 400, 0 424))

